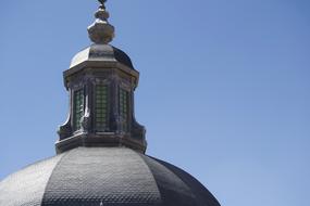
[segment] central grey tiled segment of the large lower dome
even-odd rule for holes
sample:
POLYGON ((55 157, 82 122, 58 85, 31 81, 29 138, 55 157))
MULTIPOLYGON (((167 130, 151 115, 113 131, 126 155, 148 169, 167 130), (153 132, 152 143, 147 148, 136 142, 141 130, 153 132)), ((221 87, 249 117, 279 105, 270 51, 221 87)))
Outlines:
POLYGON ((55 167, 44 206, 159 205, 157 183, 129 149, 78 147, 55 167))

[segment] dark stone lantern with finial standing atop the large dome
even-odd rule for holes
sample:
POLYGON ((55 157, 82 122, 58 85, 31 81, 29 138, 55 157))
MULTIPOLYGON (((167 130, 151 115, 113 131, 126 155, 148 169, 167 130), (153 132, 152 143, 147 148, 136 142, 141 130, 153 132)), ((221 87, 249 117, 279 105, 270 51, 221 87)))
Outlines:
POLYGON ((135 120, 134 91, 139 73, 122 50, 108 44, 114 37, 104 2, 88 27, 94 42, 78 52, 64 72, 70 114, 59 129, 57 152, 77 146, 127 146, 145 153, 145 128, 135 120))

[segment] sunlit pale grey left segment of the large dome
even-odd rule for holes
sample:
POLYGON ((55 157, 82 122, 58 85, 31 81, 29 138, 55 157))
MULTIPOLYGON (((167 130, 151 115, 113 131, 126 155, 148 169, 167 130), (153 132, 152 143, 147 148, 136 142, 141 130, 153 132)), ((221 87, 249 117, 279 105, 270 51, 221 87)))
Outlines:
POLYGON ((0 206, 40 206, 48 180, 62 156, 38 162, 0 182, 0 206))

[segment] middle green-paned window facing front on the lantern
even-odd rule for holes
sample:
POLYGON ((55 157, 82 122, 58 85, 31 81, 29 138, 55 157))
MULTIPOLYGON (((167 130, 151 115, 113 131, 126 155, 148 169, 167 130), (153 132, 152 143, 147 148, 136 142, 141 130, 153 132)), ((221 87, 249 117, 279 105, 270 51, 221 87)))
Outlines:
POLYGON ((106 131, 108 128, 108 86, 97 85, 95 89, 95 125, 97 131, 106 131))

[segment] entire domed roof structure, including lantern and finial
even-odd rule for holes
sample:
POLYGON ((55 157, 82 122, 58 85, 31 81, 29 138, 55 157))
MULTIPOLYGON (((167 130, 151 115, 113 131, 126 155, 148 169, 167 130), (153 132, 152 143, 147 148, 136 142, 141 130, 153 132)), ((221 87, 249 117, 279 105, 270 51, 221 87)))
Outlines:
POLYGON ((104 2, 88 27, 95 42, 63 73, 70 112, 58 155, 0 181, 0 206, 220 206, 194 177, 145 155, 134 112, 139 73, 114 37, 104 2))

